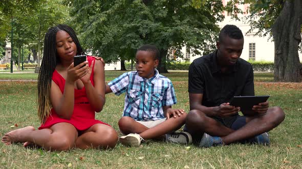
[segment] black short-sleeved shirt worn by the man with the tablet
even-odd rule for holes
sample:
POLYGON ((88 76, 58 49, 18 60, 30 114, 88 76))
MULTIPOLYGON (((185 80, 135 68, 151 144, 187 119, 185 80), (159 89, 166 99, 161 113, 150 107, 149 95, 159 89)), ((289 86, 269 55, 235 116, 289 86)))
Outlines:
POLYGON ((239 58, 235 65, 221 72, 217 50, 194 60, 189 67, 189 93, 203 94, 202 105, 219 106, 233 96, 254 95, 252 65, 239 58))

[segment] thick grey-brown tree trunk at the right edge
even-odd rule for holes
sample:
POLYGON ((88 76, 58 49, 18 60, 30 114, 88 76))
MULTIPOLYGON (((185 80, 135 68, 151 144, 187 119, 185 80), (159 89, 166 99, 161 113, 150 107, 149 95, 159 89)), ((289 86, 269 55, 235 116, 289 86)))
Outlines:
POLYGON ((301 25, 301 0, 287 0, 272 26, 275 43, 274 81, 301 80, 302 70, 298 55, 301 25))

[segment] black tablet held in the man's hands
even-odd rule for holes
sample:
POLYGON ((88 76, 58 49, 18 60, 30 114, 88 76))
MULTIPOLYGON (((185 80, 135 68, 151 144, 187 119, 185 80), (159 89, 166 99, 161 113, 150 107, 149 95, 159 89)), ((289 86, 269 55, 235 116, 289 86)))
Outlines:
MULTIPOLYGON (((266 102, 269 98, 268 95, 266 96, 234 96, 230 105, 235 107, 240 107, 241 111, 244 110, 252 110, 254 105, 258 105, 259 103, 266 102)), ((246 115, 244 112, 242 112, 246 115)), ((250 114, 249 114, 250 115, 250 114)))

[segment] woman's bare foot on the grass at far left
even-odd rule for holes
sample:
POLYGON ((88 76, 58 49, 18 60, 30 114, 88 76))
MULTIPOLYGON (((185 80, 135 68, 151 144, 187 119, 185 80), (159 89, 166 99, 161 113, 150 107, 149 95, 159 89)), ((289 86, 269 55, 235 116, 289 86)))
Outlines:
POLYGON ((28 136, 29 133, 34 130, 35 128, 33 126, 13 130, 11 132, 6 133, 2 137, 2 142, 6 145, 10 145, 12 143, 24 143, 26 142, 25 137, 28 136))

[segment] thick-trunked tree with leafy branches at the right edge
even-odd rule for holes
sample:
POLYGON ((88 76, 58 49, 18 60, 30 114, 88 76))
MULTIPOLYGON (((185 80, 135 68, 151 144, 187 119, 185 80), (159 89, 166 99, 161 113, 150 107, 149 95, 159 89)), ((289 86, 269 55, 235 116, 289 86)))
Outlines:
MULTIPOLYGON (((301 0, 231 1, 250 4, 248 22, 258 35, 269 35, 275 44, 274 80, 299 82, 302 66, 298 50, 301 51, 302 2, 301 0)), ((235 9, 235 8, 233 8, 235 9)))

